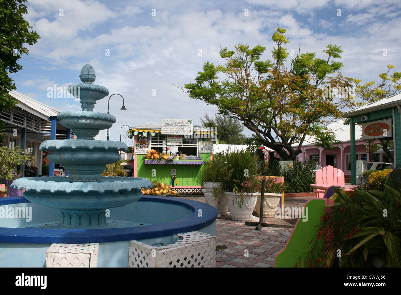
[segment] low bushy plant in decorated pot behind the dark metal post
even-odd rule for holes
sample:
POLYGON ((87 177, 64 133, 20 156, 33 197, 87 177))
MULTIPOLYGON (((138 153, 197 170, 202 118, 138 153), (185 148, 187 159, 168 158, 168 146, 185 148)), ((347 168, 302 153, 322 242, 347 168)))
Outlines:
MULTIPOLYGON (((265 192, 263 194, 263 217, 274 217, 275 210, 280 203, 280 199, 286 189, 284 183, 277 183, 274 177, 266 177, 265 192)), ((255 205, 256 216, 260 216, 261 185, 258 185, 259 195, 255 205)))

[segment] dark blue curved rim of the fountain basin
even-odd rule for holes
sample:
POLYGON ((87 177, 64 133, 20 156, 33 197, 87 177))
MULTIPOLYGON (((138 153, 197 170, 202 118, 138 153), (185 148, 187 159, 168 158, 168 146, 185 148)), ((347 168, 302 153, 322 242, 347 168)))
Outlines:
MULTIPOLYGON (((81 244, 99 242, 117 242, 142 240, 170 236, 181 232, 199 230, 213 224, 217 218, 217 210, 211 205, 187 199, 172 199, 171 197, 142 197, 138 202, 160 202, 181 205, 194 213, 181 220, 135 226, 129 228, 104 229, 41 229, 41 228, 0 228, 0 243, 15 244, 81 244), (198 216, 198 210, 202 216, 198 216)), ((0 199, 0 205, 30 203, 24 197, 8 197, 0 199)))

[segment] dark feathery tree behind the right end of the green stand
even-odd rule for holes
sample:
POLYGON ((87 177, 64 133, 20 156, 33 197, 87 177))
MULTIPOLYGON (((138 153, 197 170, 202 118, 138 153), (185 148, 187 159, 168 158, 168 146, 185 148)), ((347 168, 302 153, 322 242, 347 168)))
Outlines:
POLYGON ((225 115, 215 114, 215 118, 210 118, 206 113, 201 118, 201 123, 205 127, 217 127, 217 139, 221 144, 244 144, 245 135, 242 134, 244 127, 241 122, 225 115))

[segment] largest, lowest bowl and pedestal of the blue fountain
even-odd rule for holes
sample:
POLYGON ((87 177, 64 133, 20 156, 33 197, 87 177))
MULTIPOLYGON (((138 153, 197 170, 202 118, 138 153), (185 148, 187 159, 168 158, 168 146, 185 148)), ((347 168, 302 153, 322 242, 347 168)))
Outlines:
POLYGON ((73 182, 70 177, 24 177, 13 187, 25 188, 24 198, 61 210, 62 228, 105 228, 107 208, 124 206, 143 197, 141 188, 152 182, 140 177, 101 177, 73 182))

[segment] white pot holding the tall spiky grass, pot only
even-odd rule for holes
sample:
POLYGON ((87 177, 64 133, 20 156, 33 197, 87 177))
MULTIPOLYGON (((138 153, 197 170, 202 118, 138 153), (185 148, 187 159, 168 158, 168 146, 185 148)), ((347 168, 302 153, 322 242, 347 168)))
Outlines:
POLYGON ((231 193, 229 191, 224 192, 227 198, 227 205, 230 210, 231 219, 237 221, 249 220, 252 217, 253 208, 255 207, 257 196, 259 193, 244 193, 245 198, 241 207, 238 204, 241 196, 231 193))

